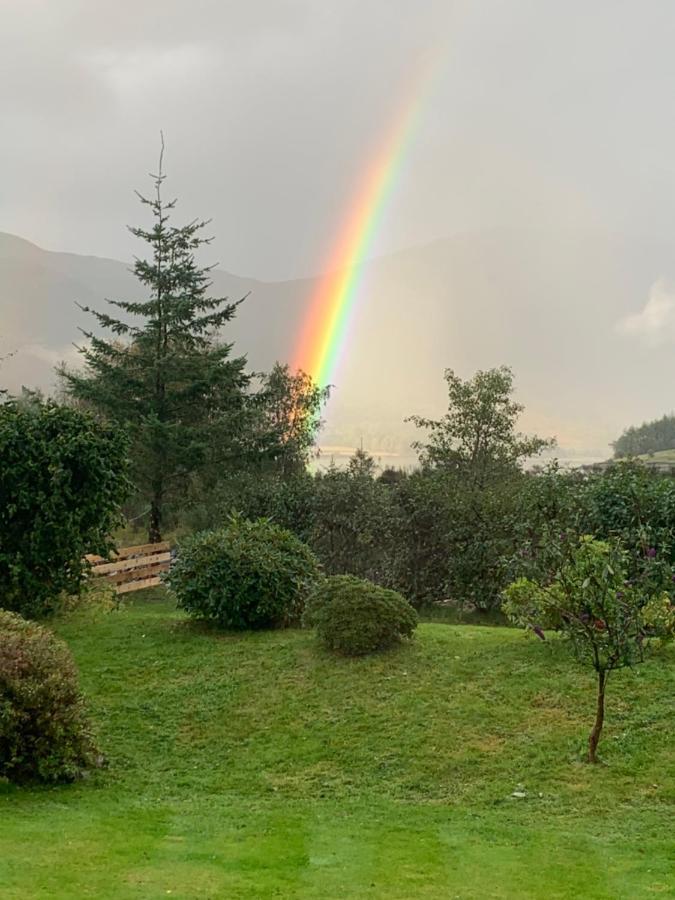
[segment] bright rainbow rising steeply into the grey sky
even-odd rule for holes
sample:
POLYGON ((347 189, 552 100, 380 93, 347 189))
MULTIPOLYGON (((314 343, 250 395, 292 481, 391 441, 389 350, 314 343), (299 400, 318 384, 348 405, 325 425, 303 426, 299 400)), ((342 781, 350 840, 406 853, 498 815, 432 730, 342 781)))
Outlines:
POLYGON ((385 141, 366 170, 318 290, 310 301, 293 368, 330 384, 349 337, 363 263, 373 247, 397 178, 415 137, 436 65, 427 63, 408 92, 385 141))

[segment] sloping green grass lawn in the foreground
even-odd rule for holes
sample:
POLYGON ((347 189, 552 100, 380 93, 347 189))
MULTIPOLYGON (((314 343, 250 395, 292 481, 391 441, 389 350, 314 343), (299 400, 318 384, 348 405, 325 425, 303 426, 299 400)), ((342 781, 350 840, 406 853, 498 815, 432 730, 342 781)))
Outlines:
POLYGON ((55 627, 110 766, 0 786, 2 900, 675 896, 672 650, 610 680, 591 767, 590 675, 518 631, 340 660, 161 591, 55 627))

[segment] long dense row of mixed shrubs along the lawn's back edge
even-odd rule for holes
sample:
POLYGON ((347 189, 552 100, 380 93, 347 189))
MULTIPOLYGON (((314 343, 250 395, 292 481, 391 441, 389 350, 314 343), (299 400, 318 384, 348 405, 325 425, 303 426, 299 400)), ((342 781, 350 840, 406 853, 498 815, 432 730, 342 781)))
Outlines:
POLYGON ((327 574, 369 579, 417 607, 450 598, 497 608, 511 581, 550 573, 584 534, 619 539, 635 574, 648 560, 665 579, 675 563, 675 481, 630 463, 597 474, 514 470, 477 485, 438 469, 378 475, 358 453, 344 470, 234 478, 192 510, 194 524, 231 510, 293 531, 327 574))

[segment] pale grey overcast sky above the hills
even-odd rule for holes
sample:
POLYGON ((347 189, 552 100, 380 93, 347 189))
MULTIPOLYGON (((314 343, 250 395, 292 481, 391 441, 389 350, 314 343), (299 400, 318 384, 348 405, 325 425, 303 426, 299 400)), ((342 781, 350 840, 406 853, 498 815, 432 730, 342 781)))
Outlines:
MULTIPOLYGON (((321 271, 427 50, 376 243, 675 235, 672 0, 0 0, 0 230, 129 258, 159 130, 237 274, 321 271)), ((142 221, 142 218, 140 218, 142 221)))

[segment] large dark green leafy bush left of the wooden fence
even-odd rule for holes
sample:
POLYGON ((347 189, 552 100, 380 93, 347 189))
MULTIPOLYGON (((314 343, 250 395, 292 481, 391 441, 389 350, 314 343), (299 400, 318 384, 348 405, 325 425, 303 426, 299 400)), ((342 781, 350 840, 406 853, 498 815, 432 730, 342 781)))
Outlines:
POLYGON ((28 617, 78 593, 128 490, 119 428, 36 398, 0 404, 0 604, 28 617))

